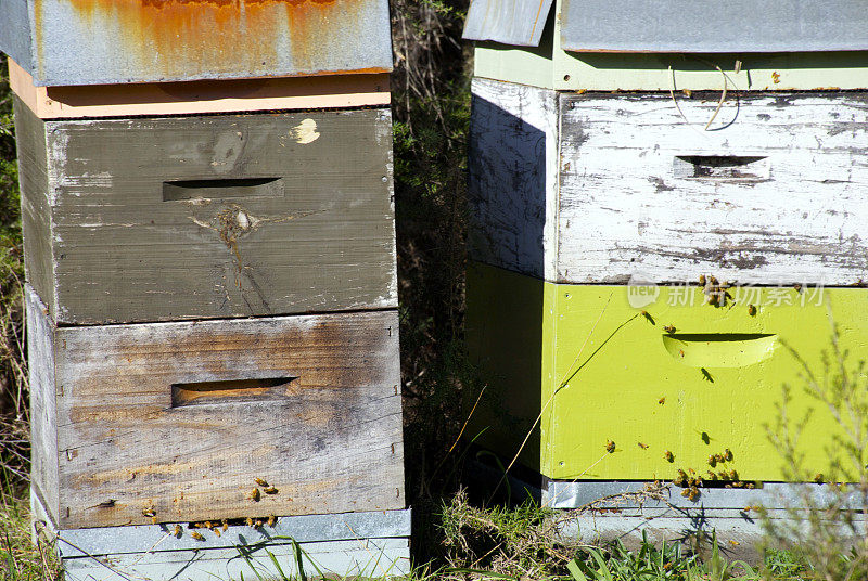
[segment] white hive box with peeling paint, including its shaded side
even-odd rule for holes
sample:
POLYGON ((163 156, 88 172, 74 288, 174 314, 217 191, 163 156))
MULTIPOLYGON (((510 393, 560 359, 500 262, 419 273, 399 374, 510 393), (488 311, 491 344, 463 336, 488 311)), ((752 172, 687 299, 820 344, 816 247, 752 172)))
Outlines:
POLYGON ((679 113, 660 93, 473 91, 474 260, 564 283, 868 280, 864 95, 742 94, 705 131, 719 93, 679 113))

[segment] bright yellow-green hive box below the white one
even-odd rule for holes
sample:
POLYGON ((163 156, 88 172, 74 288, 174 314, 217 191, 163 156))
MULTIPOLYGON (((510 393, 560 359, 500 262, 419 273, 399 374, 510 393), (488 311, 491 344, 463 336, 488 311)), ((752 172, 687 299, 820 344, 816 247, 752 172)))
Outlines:
POLYGON ((840 428, 804 376, 831 377, 830 312, 848 364, 864 359, 868 289, 729 293, 715 307, 697 285, 557 284, 472 262, 468 339, 486 389, 470 437, 507 461, 521 450, 523 465, 553 480, 673 479, 692 468, 780 481, 786 462, 765 426, 781 417, 789 385, 793 421, 814 409, 800 439, 805 467, 830 474, 840 428), (730 462, 709 465, 727 450, 730 462))

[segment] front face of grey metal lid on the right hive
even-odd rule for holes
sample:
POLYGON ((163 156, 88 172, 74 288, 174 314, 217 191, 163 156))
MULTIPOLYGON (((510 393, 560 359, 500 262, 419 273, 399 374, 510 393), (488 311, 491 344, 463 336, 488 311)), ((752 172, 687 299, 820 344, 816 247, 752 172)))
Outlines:
POLYGON ((868 50, 865 0, 563 0, 571 51, 868 50))

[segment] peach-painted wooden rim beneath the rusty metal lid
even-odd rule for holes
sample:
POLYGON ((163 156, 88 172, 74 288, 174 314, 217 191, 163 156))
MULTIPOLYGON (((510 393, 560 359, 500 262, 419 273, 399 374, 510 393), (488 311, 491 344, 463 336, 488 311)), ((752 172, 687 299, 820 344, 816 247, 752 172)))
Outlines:
POLYGON ((36 87, 9 59, 13 92, 40 119, 387 105, 388 74, 36 87))

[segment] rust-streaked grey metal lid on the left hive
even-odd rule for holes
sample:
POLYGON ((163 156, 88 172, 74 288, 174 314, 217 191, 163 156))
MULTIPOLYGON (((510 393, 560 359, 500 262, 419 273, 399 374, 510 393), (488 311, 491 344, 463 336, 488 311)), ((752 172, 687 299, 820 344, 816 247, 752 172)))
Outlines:
POLYGON ((0 0, 37 86, 382 73, 385 0, 0 0))

